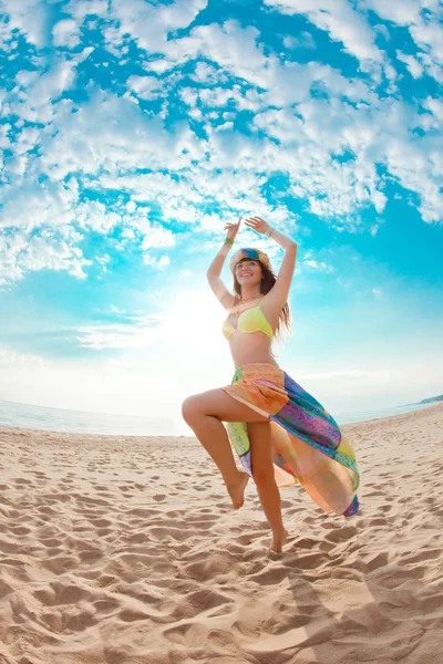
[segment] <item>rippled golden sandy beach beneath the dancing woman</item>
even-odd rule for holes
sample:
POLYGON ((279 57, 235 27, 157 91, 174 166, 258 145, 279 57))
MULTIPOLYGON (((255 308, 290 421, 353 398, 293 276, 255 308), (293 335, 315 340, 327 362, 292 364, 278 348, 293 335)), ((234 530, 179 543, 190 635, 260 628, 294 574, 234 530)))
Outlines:
POLYGON ((441 664, 443 404, 342 428, 361 513, 269 557, 195 438, 0 427, 0 664, 441 664))

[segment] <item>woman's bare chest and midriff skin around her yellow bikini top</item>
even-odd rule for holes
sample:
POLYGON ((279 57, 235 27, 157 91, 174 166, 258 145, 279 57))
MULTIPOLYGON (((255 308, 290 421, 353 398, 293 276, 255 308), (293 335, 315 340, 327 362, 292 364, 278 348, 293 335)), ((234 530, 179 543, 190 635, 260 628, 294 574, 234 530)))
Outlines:
POLYGON ((244 364, 256 362, 264 362, 278 366, 270 352, 272 340, 268 336, 268 334, 261 330, 257 332, 241 332, 237 329, 238 319, 241 313, 249 309, 255 309, 256 307, 259 307, 261 310, 261 313, 272 329, 272 332, 275 332, 278 323, 280 311, 277 311, 276 305, 272 305, 272 302, 266 298, 266 295, 259 300, 254 300, 243 304, 240 304, 237 300, 237 303, 233 307, 231 311, 228 312, 227 317, 227 321, 229 321, 230 325, 235 329, 227 341, 229 343, 230 353, 233 355, 236 370, 244 364))

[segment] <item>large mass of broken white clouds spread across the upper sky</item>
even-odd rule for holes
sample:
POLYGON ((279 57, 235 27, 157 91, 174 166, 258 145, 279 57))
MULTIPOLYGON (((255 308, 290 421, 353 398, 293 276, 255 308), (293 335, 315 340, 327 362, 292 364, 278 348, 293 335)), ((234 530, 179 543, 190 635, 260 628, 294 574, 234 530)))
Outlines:
MULTIPOLYGON (((0 143, 13 153, 2 172, 7 184, 1 194, 0 225, 21 228, 23 241, 28 232, 33 234, 34 242, 39 237, 39 242, 48 241, 41 264, 84 274, 82 266, 87 263, 82 263, 81 251, 73 251, 81 236, 72 232, 68 240, 47 231, 73 224, 103 235, 119 226, 115 247, 123 250, 134 242, 144 251, 175 243, 174 234, 162 228, 159 219, 192 224, 197 231, 218 235, 233 210, 259 209, 266 218, 281 216, 281 222, 292 229, 296 217, 285 206, 277 207, 279 193, 274 194, 272 203, 264 194, 267 179, 275 173, 289 178, 287 194, 307 201, 312 212, 333 219, 339 229, 346 224, 352 227, 356 218, 358 222, 361 208, 372 206, 382 214, 385 195, 379 165, 388 169, 388 177, 419 195, 426 221, 441 219, 439 143, 434 137, 426 141, 413 134, 418 126, 437 128, 436 100, 424 103, 432 115, 418 117, 401 102, 379 98, 373 81, 347 79, 317 62, 301 65, 268 54, 257 28, 243 28, 235 20, 196 25, 186 37, 177 38, 176 30, 189 25, 206 4, 205 0, 167 6, 144 0, 113 0, 110 4, 105 0, 79 0, 66 6, 65 15, 71 18, 54 25, 55 44, 76 39, 86 17, 102 17, 105 21, 101 28, 110 31, 116 52, 127 52, 131 40, 135 40, 146 48, 142 59, 146 71, 161 74, 175 68, 164 79, 130 76, 126 92, 119 92, 119 96, 90 85, 90 98, 82 104, 61 98, 74 86, 80 63, 92 52, 90 46, 75 55, 56 55, 47 71, 40 63, 40 70, 23 68, 17 74, 4 110, 19 114, 20 120, 0 129, 0 143), (163 59, 156 55, 156 60, 147 60, 153 49, 163 59), (196 63, 190 77, 197 86, 189 86, 188 81, 183 86, 179 65, 197 56, 212 63, 196 63), (200 122, 204 138, 190 131, 187 121, 171 124, 167 104, 156 116, 144 110, 146 104, 141 100, 155 100, 166 89, 177 91, 192 106, 189 116, 200 122), (321 93, 320 98, 312 98, 313 91, 321 93), (249 123, 244 132, 236 128, 239 116, 249 123), (28 126, 37 122, 38 126, 28 126), (151 173, 141 174, 141 165, 151 173), (65 178, 70 178, 69 184, 63 183, 65 178), (92 188, 97 200, 81 198, 83 188, 92 188), (128 194, 131 201, 110 197, 112 203, 105 205, 107 189, 128 194), (64 253, 68 251, 71 262, 64 253)), ((420 7, 425 4, 436 11, 435 3, 422 2, 420 7)), ((7 6, 13 10, 10 2, 7 6)), ((34 6, 29 0, 20 3, 21 9, 34 6)), ((415 59, 401 52, 399 56, 413 75, 420 74, 420 68, 429 71, 436 66, 439 30, 413 2, 405 6, 403 18, 392 8, 383 13, 375 0, 358 2, 357 9, 343 0, 269 0, 268 6, 303 13, 332 39, 342 41, 364 66, 382 63, 385 73, 390 65, 383 63, 374 45, 375 33, 357 9, 372 9, 384 20, 403 20, 424 50, 415 59)), ((14 15, 25 21, 19 4, 16 9, 14 15)), ((300 39, 308 37, 306 33, 300 39)), ((297 45, 288 39, 286 35, 287 46, 297 45)), ((391 71, 392 81, 394 75, 391 71)), ((371 232, 373 229, 372 225, 371 232)), ((38 269, 34 253, 19 261, 18 253, 11 251, 9 247, 3 279, 21 278, 27 266, 38 269)), ((144 260, 162 269, 171 259, 148 253, 144 260)))

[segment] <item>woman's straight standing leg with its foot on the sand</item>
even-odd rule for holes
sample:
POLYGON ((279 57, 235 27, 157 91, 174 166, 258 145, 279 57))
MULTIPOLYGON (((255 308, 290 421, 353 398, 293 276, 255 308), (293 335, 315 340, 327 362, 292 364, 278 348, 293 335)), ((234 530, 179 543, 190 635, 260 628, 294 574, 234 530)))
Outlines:
POLYGON ((275 476, 271 453, 270 423, 247 425, 250 443, 254 481, 269 527, 272 530, 270 550, 279 553, 288 537, 281 519, 281 500, 275 476))

